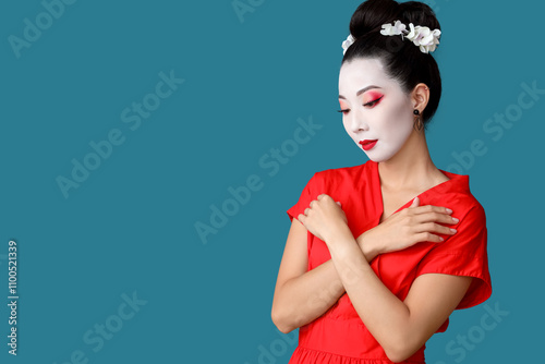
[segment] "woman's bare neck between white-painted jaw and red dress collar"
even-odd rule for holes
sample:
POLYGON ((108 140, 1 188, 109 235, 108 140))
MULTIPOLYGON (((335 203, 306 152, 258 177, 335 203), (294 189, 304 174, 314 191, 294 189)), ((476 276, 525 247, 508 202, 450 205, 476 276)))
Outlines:
POLYGON ((390 159, 378 162, 380 185, 387 190, 423 190, 446 177, 435 167, 424 131, 411 133, 390 159))

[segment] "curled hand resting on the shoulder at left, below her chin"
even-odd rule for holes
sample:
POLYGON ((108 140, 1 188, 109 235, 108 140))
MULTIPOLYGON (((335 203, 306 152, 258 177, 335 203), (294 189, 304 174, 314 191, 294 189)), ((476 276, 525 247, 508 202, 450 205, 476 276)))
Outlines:
POLYGON ((327 243, 331 238, 350 232, 340 203, 336 203, 329 195, 318 195, 308 206, 304 215, 298 216, 298 220, 316 238, 327 243))

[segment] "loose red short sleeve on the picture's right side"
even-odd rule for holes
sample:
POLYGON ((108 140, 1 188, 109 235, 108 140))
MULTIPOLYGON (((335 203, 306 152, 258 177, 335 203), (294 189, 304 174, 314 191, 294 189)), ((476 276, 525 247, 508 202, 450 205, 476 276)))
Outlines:
POLYGON ((445 274, 473 277, 456 310, 469 308, 492 295, 488 271, 486 216, 476 203, 456 226, 457 233, 438 243, 420 262, 416 276, 445 274))

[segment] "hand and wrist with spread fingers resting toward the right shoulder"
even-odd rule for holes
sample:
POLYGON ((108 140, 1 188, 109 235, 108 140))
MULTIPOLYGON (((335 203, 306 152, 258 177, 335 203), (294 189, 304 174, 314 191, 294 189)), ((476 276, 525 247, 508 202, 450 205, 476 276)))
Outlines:
POLYGON ((365 231, 356 241, 372 258, 378 254, 401 251, 420 242, 440 243, 443 238, 437 235, 453 235, 456 230, 440 223, 458 223, 458 219, 450 216, 451 210, 446 207, 425 205, 419 206, 415 197, 411 206, 392 214, 378 226, 365 231), (365 245, 365 247, 364 247, 365 245))

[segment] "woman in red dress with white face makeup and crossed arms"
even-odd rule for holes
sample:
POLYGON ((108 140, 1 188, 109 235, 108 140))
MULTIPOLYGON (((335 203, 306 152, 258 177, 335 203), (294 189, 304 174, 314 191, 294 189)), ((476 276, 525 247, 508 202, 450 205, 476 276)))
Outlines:
POLYGON ((452 311, 492 294, 486 218, 469 177, 427 149, 441 94, 432 9, 368 0, 350 33, 340 111, 370 160, 315 173, 288 210, 271 317, 300 328, 290 364, 425 363, 452 311))

